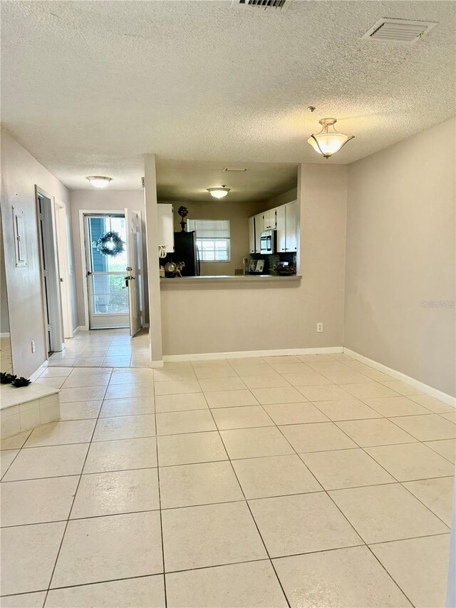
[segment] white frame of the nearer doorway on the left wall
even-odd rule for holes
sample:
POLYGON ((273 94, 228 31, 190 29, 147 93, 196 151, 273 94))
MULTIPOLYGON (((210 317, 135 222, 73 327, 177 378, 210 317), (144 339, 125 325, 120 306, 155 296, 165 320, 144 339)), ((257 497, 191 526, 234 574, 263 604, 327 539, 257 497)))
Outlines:
MULTIPOLYGON (((36 227, 38 230, 38 247, 40 254, 40 275, 41 275, 41 301, 43 305, 43 329, 44 343, 46 349, 51 352, 63 351, 63 322, 62 306, 60 293, 60 275, 58 270, 58 253, 56 244, 56 224, 55 224, 55 199, 46 190, 35 185, 35 208, 36 208, 36 227), (43 238, 41 232, 40 204, 39 197, 49 201, 49 205, 44 205, 43 215, 44 230, 46 235, 43 238), (47 237, 47 238, 46 238, 47 237), (46 260, 48 275, 43 274, 43 257, 46 260), (48 279, 45 281, 45 279, 48 279), (48 314, 46 315, 46 306, 48 314), (49 321, 51 329, 48 330, 46 321, 49 321), (48 341, 49 333, 49 341, 48 341)), ((47 357, 48 358, 48 357, 47 357)))

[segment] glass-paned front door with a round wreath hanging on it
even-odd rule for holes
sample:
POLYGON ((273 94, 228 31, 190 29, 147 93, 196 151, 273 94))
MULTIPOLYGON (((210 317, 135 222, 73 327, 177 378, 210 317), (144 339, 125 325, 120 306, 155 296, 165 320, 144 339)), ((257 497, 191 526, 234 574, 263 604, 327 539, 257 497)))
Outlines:
POLYGON ((84 220, 90 329, 128 327, 125 215, 85 215, 84 220), (106 241, 104 246, 103 237, 109 232, 120 241, 106 241))

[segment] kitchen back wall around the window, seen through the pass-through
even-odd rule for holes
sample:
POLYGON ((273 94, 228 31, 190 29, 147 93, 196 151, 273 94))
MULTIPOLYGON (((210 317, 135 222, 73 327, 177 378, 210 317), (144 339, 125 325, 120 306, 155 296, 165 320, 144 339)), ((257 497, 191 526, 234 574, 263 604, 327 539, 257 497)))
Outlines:
MULTIPOLYGON (((227 197, 228 199, 228 197, 227 197)), ((165 201, 160 201, 165 202, 165 201)), ((229 262, 201 262, 201 274, 234 274, 234 269, 242 269, 242 258, 249 256, 249 217, 270 209, 267 201, 232 202, 221 201, 173 201, 175 231, 180 232, 180 215, 177 210, 185 205, 190 220, 229 220, 231 259, 229 262)), ((273 205, 274 206, 274 205, 273 205)))

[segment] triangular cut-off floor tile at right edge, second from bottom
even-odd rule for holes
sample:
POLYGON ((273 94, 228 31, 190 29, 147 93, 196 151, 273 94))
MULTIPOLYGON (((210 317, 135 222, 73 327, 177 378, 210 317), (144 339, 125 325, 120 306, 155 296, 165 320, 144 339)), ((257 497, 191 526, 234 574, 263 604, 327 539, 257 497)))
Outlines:
POLYGON ((404 483, 404 486, 447 526, 451 526, 452 497, 455 488, 453 476, 409 481, 404 483))

